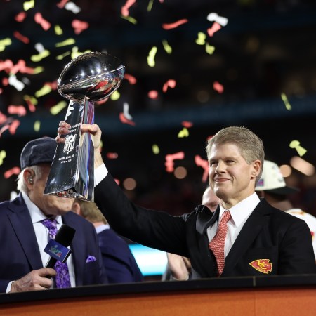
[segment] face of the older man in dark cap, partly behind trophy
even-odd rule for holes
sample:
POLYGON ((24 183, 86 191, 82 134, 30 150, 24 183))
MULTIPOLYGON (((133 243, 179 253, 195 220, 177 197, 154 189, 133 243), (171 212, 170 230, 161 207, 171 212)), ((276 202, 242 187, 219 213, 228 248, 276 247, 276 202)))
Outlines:
POLYGON ((34 177, 34 184, 29 187, 29 199, 39 207, 46 215, 63 215, 72 209, 74 199, 68 197, 56 197, 55 195, 43 195, 51 166, 41 165, 41 177, 34 177))

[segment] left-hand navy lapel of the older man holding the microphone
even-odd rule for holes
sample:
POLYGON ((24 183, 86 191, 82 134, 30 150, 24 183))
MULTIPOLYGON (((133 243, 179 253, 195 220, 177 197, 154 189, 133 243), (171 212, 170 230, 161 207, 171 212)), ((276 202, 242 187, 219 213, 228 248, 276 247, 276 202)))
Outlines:
POLYGON ((13 211, 13 213, 8 215, 8 218, 19 239, 25 256, 27 257, 27 261, 29 261, 29 265, 32 270, 43 268, 31 216, 29 215, 29 211, 27 210, 27 206, 25 205, 22 196, 19 195, 13 202, 11 202, 8 209, 13 211))

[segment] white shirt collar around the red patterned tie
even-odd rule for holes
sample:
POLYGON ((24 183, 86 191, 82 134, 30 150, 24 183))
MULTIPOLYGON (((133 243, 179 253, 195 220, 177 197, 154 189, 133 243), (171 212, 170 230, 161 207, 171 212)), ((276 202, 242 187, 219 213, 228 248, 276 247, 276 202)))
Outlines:
MULTIPOLYGON (((254 211, 259 202, 260 199, 258 198, 256 192, 254 192, 252 195, 246 197, 246 199, 243 199, 235 206, 232 206, 230 209, 230 215, 232 216, 232 220, 234 221, 235 225, 239 226, 241 223, 243 223, 244 220, 250 216, 252 211, 254 211)), ((226 209, 220 205, 219 218, 223 215, 224 211, 226 211, 226 209)))

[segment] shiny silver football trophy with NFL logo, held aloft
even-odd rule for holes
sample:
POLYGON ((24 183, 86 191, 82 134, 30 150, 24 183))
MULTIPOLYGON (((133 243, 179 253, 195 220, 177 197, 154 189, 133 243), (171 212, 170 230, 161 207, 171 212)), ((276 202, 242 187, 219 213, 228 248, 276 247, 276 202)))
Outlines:
POLYGON ((71 125, 65 143, 58 143, 44 195, 93 201, 94 151, 82 124, 93 124, 94 102, 119 88, 125 66, 107 53, 84 53, 74 58, 58 78, 58 92, 70 100, 65 121, 71 125))

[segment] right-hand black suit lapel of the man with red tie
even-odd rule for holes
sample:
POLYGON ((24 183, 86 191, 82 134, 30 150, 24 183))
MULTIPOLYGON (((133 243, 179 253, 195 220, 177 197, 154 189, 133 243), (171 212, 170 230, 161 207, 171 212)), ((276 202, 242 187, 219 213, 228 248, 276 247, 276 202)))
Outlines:
POLYGON ((244 227, 239 232, 237 239, 232 245, 232 249, 228 253, 228 256, 225 259, 225 268, 223 270, 222 276, 225 277, 226 271, 232 271, 240 258, 244 253, 249 249, 249 246, 262 230, 263 225, 265 224, 265 218, 271 213, 269 204, 262 200, 256 209, 251 213, 244 227))

